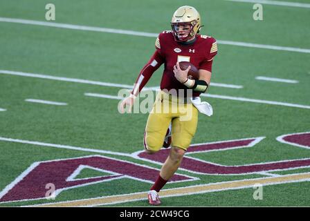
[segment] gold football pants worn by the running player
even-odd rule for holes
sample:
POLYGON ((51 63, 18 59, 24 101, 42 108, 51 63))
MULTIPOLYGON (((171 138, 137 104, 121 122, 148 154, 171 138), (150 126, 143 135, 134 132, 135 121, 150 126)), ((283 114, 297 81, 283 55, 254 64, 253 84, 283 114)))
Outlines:
POLYGON ((145 149, 159 151, 172 122, 172 146, 186 151, 196 132, 197 121, 198 110, 194 105, 160 91, 147 119, 145 149))

